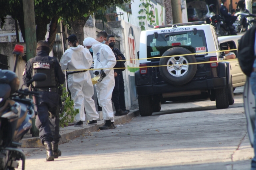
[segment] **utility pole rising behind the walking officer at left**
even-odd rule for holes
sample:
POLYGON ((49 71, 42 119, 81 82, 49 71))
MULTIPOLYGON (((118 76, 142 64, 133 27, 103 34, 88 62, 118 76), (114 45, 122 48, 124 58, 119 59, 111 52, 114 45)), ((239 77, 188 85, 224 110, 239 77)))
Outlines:
MULTIPOLYGON (((23 13, 26 39, 27 61, 36 56, 36 21, 34 12, 34 0, 23 0, 23 13)), ((39 130, 35 125, 36 119, 32 119, 30 133, 32 137, 39 137, 39 130)))

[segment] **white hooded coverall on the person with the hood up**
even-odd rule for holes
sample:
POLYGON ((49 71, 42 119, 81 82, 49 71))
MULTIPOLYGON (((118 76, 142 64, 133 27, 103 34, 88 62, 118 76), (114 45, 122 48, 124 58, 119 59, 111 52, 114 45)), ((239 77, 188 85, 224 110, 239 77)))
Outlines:
MULTIPOLYGON (((102 44, 93 38, 84 39, 84 46, 92 46, 94 69, 113 68, 116 65, 116 57, 108 45, 102 44)), ((96 70, 94 70, 95 72, 96 70)), ((102 107, 103 119, 114 122, 114 112, 112 108, 112 92, 115 86, 114 70, 104 69, 106 77, 95 84, 98 102, 102 107)))

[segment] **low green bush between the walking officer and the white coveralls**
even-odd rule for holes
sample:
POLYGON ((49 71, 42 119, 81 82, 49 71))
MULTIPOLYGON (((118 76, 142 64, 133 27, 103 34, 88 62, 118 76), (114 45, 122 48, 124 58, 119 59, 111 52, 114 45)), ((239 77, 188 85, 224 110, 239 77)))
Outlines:
MULTIPOLYGON (((63 86, 63 85, 62 85, 63 86)), ((66 88, 63 88, 63 94, 61 96, 61 100, 65 101, 64 111, 60 114, 60 126, 64 128, 64 125, 68 125, 68 122, 74 122, 74 117, 79 113, 79 109, 74 110, 74 101, 70 99, 68 96, 68 92, 66 92, 66 88)))

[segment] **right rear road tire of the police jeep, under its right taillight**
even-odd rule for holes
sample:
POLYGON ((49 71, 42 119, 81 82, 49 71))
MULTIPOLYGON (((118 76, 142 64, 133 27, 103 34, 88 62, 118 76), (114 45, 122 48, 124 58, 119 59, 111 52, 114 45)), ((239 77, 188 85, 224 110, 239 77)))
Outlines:
POLYGON ((228 88, 220 88, 214 90, 215 102, 217 109, 226 109, 229 106, 228 103, 228 88))

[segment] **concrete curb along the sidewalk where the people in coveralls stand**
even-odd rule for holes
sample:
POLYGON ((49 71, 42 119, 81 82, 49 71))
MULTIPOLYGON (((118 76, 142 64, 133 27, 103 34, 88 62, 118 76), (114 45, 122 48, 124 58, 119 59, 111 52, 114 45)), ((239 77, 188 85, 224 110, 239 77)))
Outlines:
MULTIPOLYGON (((118 125, 120 123, 126 123, 126 121, 132 119, 133 117, 136 117, 140 114, 139 110, 133 110, 128 115, 114 117, 115 119, 115 125, 118 125)), ((66 128, 60 128, 60 142, 59 144, 67 143, 68 141, 76 138, 77 136, 83 135, 84 133, 97 131, 99 127, 104 125, 104 121, 98 121, 98 125, 94 126, 88 126, 85 125, 84 127, 66 127, 66 128), (68 129, 69 128, 69 129, 68 129), (79 129, 78 129, 79 128, 79 129)), ((22 139, 20 141, 22 144, 22 148, 39 148, 44 147, 41 143, 40 137, 30 137, 26 139, 22 139)))

